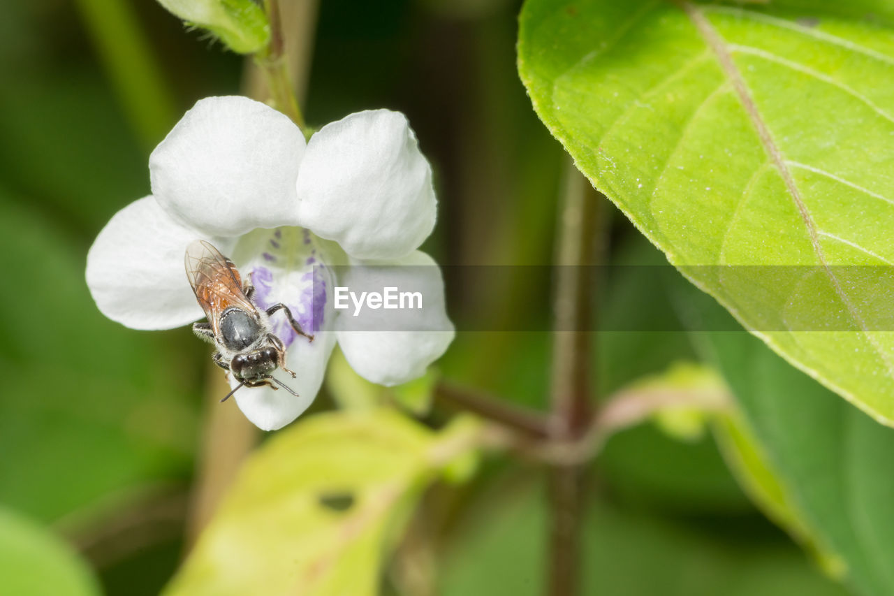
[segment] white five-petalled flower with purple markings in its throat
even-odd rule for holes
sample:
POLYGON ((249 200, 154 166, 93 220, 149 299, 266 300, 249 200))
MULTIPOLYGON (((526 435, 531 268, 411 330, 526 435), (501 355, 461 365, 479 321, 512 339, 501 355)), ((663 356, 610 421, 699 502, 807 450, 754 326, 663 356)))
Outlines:
POLYGON ((404 115, 358 112, 305 142, 271 107, 206 98, 152 152, 149 173, 152 195, 116 213, 90 248, 90 292, 105 316, 130 328, 201 319, 183 254, 193 240, 213 243, 252 276, 259 306, 285 303, 316 336, 310 343, 274 315, 286 365, 298 373, 277 378, 300 397, 268 387, 236 392, 258 427, 281 428, 307 409, 336 341, 360 375, 384 385, 421 375, 451 343, 440 270, 417 251, 434 227, 431 167, 404 115), (333 266, 366 263, 429 266, 413 268, 435 297, 425 325, 357 331, 339 324, 342 311, 336 316, 321 288, 340 275, 333 266))

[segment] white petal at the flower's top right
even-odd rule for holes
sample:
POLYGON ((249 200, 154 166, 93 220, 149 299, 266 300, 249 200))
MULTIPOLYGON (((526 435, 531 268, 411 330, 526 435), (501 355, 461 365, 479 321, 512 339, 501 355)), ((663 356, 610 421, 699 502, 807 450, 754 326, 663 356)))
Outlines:
POLYGON ((432 168, 399 112, 358 112, 316 132, 298 196, 299 225, 358 259, 405 256, 434 227, 432 168))

